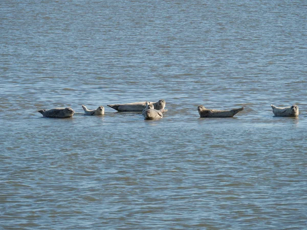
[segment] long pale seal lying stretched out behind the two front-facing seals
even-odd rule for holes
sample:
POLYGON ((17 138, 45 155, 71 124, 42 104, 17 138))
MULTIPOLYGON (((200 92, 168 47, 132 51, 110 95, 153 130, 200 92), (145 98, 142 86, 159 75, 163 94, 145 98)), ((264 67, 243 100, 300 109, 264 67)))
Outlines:
POLYGON ((142 112, 147 106, 146 103, 153 104, 153 107, 157 110, 164 109, 165 107, 164 100, 159 100, 155 103, 142 101, 142 102, 127 103, 127 104, 107 105, 107 106, 119 112, 142 112))

